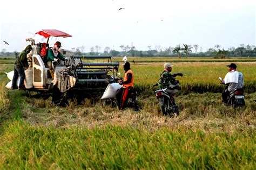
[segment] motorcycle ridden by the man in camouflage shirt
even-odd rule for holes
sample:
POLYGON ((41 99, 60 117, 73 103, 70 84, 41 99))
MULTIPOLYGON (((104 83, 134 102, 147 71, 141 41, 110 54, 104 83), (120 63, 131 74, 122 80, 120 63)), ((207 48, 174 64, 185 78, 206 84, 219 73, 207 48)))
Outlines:
POLYGON ((179 81, 176 80, 176 83, 174 85, 170 84, 170 86, 168 88, 154 91, 154 93, 156 94, 157 99, 159 101, 161 112, 163 113, 163 115, 167 115, 167 116, 171 116, 171 117, 178 116, 179 115, 179 107, 176 104, 174 97, 170 96, 169 93, 166 92, 167 89, 174 89, 175 90, 174 92, 177 93, 178 90, 181 89, 179 81))

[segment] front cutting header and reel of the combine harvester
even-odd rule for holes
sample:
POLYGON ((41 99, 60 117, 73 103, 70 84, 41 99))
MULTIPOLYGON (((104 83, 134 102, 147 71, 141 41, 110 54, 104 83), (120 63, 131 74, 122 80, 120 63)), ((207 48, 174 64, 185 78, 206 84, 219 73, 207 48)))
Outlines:
POLYGON ((117 76, 119 62, 112 56, 70 56, 67 67, 58 72, 58 89, 92 94, 104 91, 117 76))

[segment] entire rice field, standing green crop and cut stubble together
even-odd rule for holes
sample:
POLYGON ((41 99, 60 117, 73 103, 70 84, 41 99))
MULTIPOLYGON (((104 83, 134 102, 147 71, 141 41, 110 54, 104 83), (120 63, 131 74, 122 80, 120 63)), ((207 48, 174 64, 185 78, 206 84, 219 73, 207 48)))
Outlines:
POLYGON ((172 73, 184 76, 174 118, 161 115, 153 94, 164 62, 131 63, 138 112, 28 98, 4 88, 13 66, 1 64, 0 169, 255 169, 255 62, 236 62, 247 90, 246 108, 237 110, 218 93, 228 62, 175 62, 172 73))

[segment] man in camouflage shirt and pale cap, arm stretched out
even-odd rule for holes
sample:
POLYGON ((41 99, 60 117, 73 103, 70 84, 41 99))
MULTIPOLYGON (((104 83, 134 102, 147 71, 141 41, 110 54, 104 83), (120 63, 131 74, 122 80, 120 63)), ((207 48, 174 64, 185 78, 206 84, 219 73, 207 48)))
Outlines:
POLYGON ((167 88, 165 91, 169 94, 175 94, 178 92, 177 87, 172 88, 172 87, 170 87, 170 85, 175 85, 178 83, 174 79, 176 76, 183 76, 182 73, 171 74, 172 67, 173 67, 173 65, 171 65, 170 63, 165 63, 164 64, 164 72, 160 74, 160 78, 158 81, 159 89, 167 88))

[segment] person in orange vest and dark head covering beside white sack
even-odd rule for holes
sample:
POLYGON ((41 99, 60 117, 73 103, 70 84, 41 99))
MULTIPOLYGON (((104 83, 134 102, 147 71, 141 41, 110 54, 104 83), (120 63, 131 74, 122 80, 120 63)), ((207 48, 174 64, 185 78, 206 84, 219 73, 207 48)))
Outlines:
POLYGON ((134 74, 130 68, 130 62, 125 62, 124 70, 124 80, 119 80, 119 84, 122 85, 122 88, 120 88, 116 94, 117 104, 120 110, 125 108, 129 91, 133 88, 134 83, 134 74))

